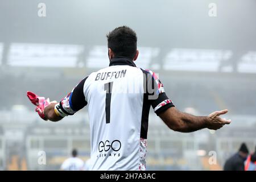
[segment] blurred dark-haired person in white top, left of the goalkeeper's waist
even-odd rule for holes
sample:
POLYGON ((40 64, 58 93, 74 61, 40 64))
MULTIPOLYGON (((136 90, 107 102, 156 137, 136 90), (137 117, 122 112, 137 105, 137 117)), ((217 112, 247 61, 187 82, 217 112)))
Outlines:
POLYGON ((77 157, 77 150, 72 150, 72 157, 64 160, 60 169, 64 171, 80 171, 84 167, 82 159, 77 157))

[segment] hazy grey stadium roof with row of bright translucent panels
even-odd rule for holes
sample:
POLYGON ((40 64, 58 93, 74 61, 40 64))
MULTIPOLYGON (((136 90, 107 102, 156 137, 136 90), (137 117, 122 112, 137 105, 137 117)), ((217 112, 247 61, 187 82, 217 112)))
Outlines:
POLYGON ((104 67, 108 65, 105 35, 126 24, 138 35, 140 67, 256 72, 256 42, 251 41, 256 40, 254 1, 234 3, 232 9, 228 1, 220 2, 216 18, 208 16, 206 1, 157 5, 140 1, 137 6, 134 2, 46 0, 46 17, 38 16, 37 2, 0 2, 0 64, 104 67), (232 21, 234 16, 236 21, 232 21))

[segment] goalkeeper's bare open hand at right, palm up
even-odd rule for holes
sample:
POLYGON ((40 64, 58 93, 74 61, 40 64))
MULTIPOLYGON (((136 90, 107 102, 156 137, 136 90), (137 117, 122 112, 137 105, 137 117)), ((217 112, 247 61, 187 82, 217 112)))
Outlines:
POLYGON ((229 125, 231 120, 226 120, 225 118, 221 118, 220 115, 228 113, 228 109, 215 111, 208 115, 206 126, 210 130, 218 130, 224 125, 229 125))

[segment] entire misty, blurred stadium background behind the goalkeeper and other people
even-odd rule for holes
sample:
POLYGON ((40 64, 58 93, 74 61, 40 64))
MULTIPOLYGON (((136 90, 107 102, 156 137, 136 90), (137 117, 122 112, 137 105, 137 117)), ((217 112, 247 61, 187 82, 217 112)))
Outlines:
POLYGON ((26 92, 60 101, 82 78, 108 67, 106 34, 123 25, 137 32, 135 64, 159 74, 177 109, 196 115, 228 109, 225 118, 232 119, 217 131, 182 134, 151 109, 148 170, 221 170, 242 142, 253 152, 255 7, 254 0, 0 0, 0 169, 58 170, 72 148, 89 159, 86 108, 46 122, 26 92), (210 3, 217 16, 209 16, 210 3), (40 151, 46 165, 38 163, 40 151))

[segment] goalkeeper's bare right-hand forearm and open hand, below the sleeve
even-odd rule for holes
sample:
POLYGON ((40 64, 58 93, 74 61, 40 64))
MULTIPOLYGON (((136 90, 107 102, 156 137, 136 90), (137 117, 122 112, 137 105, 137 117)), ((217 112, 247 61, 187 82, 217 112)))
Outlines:
POLYGON ((231 121, 222 119, 221 114, 228 113, 228 110, 215 111, 208 116, 195 116, 192 114, 183 113, 175 107, 170 107, 166 111, 159 114, 159 117, 166 125, 174 130, 183 133, 189 133, 200 129, 220 129, 224 125, 228 125, 231 121))

